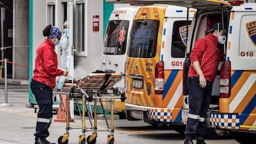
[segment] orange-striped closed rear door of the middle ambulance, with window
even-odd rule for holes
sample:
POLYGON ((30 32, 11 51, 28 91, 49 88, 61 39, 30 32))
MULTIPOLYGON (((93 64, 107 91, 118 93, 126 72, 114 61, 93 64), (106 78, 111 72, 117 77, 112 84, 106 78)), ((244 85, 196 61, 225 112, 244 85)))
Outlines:
POLYGON ((143 6, 132 24, 125 64, 127 104, 158 106, 154 96, 155 67, 160 60, 161 34, 166 6, 143 6))

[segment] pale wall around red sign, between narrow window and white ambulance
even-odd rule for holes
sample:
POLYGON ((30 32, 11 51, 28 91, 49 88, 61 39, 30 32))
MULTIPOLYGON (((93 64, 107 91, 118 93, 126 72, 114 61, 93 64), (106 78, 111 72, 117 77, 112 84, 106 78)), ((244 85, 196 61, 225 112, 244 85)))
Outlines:
POLYGON ((75 56, 74 76, 76 79, 83 78, 86 74, 95 70, 100 70, 102 62, 103 1, 87 1, 85 11, 85 48, 87 49, 87 55, 75 56), (92 16, 94 15, 100 16, 100 31, 97 32, 92 31, 92 16))

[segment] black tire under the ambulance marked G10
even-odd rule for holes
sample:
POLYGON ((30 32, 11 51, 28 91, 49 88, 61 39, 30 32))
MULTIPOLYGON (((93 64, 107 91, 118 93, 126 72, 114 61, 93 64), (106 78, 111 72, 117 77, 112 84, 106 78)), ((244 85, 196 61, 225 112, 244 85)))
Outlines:
POLYGON ((256 133, 245 133, 240 131, 232 131, 233 138, 241 144, 253 143, 252 139, 255 138, 256 133))

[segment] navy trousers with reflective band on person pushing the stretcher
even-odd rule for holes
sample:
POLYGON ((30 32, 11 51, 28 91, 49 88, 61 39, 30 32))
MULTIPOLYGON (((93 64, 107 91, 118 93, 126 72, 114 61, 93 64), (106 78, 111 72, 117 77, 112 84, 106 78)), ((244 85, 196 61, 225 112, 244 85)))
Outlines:
POLYGON ((36 138, 46 138, 50 135, 48 128, 53 118, 53 89, 32 79, 31 91, 39 106, 34 135, 36 138))

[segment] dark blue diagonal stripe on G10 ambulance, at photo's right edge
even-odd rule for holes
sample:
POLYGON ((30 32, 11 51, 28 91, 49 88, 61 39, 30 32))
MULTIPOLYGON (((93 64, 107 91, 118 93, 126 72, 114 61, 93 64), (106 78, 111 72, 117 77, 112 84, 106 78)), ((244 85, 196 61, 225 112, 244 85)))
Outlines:
POLYGON ((244 123, 247 117, 250 113, 252 113, 252 110, 255 109, 256 106, 256 94, 253 96, 252 100, 249 104, 245 107, 244 111, 242 111, 242 114, 240 116, 240 124, 244 123))

